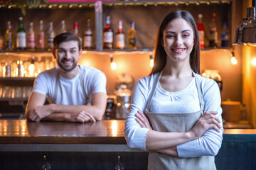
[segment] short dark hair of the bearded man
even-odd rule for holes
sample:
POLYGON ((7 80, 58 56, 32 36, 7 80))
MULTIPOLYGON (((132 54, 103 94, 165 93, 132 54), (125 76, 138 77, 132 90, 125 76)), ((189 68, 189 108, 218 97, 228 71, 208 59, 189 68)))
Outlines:
POLYGON ((66 42, 70 40, 74 40, 78 42, 79 50, 82 48, 82 42, 77 35, 73 33, 60 33, 59 35, 56 35, 55 38, 53 39, 53 49, 54 50, 57 49, 58 45, 60 45, 61 42, 66 42))

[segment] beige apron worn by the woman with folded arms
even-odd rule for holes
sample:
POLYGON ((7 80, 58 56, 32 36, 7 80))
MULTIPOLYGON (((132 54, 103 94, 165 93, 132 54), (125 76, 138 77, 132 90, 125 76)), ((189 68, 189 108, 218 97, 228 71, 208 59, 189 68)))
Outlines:
MULTIPOLYGON (((198 98, 200 102, 201 111, 195 113, 151 113, 149 108, 151 106, 151 100, 156 91, 156 85, 161 77, 161 72, 157 75, 153 84, 151 94, 146 103, 146 116, 149 118, 149 122, 153 130, 159 132, 188 132, 196 124, 198 118, 201 117, 204 111, 203 94, 201 90, 201 84, 198 80, 198 75, 193 72, 196 80, 196 89, 198 91, 198 98)), ((149 163, 148 169, 150 170, 164 170, 164 169, 186 169, 186 170, 198 170, 198 169, 216 169, 214 163, 214 157, 203 156, 195 158, 179 158, 171 157, 166 154, 149 151, 149 163)))

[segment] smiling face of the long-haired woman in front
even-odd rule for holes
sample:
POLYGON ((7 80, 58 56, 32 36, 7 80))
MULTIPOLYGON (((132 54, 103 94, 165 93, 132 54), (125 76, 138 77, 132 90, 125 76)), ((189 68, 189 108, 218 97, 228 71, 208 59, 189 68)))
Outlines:
POLYGON ((176 18, 171 21, 163 33, 164 50, 167 60, 189 62, 189 55, 194 45, 194 33, 190 23, 183 18, 176 18))

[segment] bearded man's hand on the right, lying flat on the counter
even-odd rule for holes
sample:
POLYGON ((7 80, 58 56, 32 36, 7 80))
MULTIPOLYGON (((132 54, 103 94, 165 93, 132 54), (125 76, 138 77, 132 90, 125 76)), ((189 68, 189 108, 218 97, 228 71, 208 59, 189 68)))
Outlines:
POLYGON ((67 114, 65 119, 68 122, 80 122, 80 123, 86 123, 86 122, 96 122, 95 118, 86 111, 80 111, 80 113, 73 113, 73 114, 67 114))

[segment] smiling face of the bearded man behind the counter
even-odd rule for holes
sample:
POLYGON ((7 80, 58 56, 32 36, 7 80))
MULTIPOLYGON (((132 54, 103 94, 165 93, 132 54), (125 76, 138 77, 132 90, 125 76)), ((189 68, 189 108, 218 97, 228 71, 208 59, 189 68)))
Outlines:
POLYGON ((58 66, 65 72, 75 69, 81 54, 82 50, 79 50, 78 42, 75 40, 61 42, 58 48, 53 51, 58 66))

